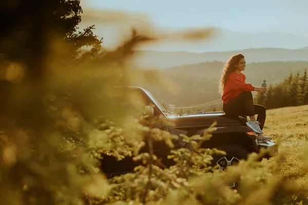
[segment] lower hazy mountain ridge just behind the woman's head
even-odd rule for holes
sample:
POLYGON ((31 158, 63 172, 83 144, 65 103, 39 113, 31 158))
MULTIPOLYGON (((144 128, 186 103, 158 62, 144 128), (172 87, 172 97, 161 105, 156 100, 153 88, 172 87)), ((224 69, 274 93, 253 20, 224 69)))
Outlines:
POLYGON ((134 51, 133 63, 145 69, 169 68, 188 64, 199 64, 205 61, 226 61, 230 56, 241 53, 247 63, 268 61, 308 61, 308 47, 300 49, 255 48, 224 52, 163 52, 153 50, 134 51))

